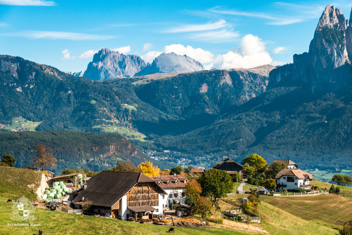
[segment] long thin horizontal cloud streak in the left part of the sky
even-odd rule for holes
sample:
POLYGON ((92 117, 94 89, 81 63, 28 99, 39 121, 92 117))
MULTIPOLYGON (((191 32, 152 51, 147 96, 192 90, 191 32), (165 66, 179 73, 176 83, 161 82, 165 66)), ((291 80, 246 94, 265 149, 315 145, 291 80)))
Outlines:
POLYGON ((107 40, 117 38, 118 36, 111 35, 95 35, 95 34, 86 34, 86 33, 73 33, 73 32, 58 32, 58 31, 23 31, 23 32, 14 32, 14 33, 4 33, 4 36, 13 36, 13 37, 25 37, 32 39, 63 39, 63 40, 107 40))

